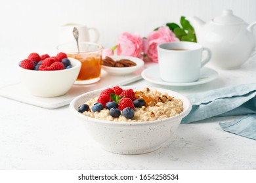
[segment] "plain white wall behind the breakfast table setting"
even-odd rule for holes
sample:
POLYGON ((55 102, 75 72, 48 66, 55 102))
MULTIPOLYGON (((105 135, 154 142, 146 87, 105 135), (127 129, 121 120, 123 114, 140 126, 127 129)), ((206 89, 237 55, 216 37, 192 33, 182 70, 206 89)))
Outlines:
POLYGON ((207 22, 226 8, 247 23, 256 21, 255 0, 1 0, 0 47, 2 53, 28 48, 55 53, 60 25, 79 23, 98 28, 98 42, 110 48, 124 31, 146 37, 167 22, 179 23, 181 16, 207 22))

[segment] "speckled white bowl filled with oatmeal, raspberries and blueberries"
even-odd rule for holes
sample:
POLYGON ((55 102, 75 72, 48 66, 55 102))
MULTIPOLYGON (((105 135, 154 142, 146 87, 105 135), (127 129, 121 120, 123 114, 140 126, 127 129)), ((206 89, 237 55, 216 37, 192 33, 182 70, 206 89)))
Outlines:
POLYGON ((144 154, 160 148, 175 133, 191 105, 171 90, 115 86, 75 97, 70 110, 104 150, 144 154))

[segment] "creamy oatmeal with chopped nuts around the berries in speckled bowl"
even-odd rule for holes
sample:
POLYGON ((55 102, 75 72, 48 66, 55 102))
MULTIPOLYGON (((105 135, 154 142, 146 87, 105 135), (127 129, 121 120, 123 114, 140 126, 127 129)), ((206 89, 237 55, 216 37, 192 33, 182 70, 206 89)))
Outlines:
MULTIPOLYGON (((88 110, 83 112, 83 114, 91 118, 113 122, 148 122, 169 118, 183 111, 183 103, 181 99, 172 97, 167 93, 161 93, 157 90, 150 90, 149 88, 144 88, 144 90, 140 91, 134 91, 134 93, 134 106, 131 107, 131 102, 129 101, 129 106, 121 107, 120 113, 117 111, 118 115, 115 114, 111 116, 110 109, 106 108, 103 108, 102 110, 100 110, 100 112, 93 112, 93 110, 88 110), (127 109, 125 108, 129 108, 129 110, 134 110, 133 118, 126 118, 125 116, 127 116, 127 114, 122 114, 122 110, 125 110, 125 113, 127 112, 127 109)), ((113 95, 116 94, 113 93, 113 95)), ((89 99, 89 101, 86 101, 85 103, 91 108, 93 107, 93 105, 95 105, 95 103, 98 102, 98 97, 89 99)), ((116 102, 118 104, 119 101, 123 99, 123 96, 116 95, 114 98, 117 98, 116 102)), ((109 98, 109 101, 112 101, 112 98, 109 98)), ((123 105, 123 103, 121 105, 123 105)), ((115 106, 114 108, 115 111, 120 109, 119 107, 115 106)), ((133 114, 133 111, 129 112, 133 114)))

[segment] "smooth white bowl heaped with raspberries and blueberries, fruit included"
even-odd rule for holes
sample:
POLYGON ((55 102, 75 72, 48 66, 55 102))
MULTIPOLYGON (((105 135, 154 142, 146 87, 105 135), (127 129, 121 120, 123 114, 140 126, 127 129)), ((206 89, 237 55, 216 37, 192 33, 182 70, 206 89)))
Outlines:
POLYGON ((81 62, 60 52, 54 57, 32 53, 18 64, 18 74, 25 88, 38 97, 64 95, 74 84, 81 62))

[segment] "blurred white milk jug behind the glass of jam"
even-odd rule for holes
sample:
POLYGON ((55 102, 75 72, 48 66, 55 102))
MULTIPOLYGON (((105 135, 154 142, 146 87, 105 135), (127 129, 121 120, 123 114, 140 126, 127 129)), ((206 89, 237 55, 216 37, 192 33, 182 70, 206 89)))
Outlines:
POLYGON ((75 41, 73 35, 74 27, 76 27, 79 31, 79 42, 98 42, 100 34, 98 33, 98 29, 95 27, 87 27, 86 25, 82 24, 65 24, 60 26, 59 44, 75 41), (92 40, 91 37, 93 37, 92 40))

